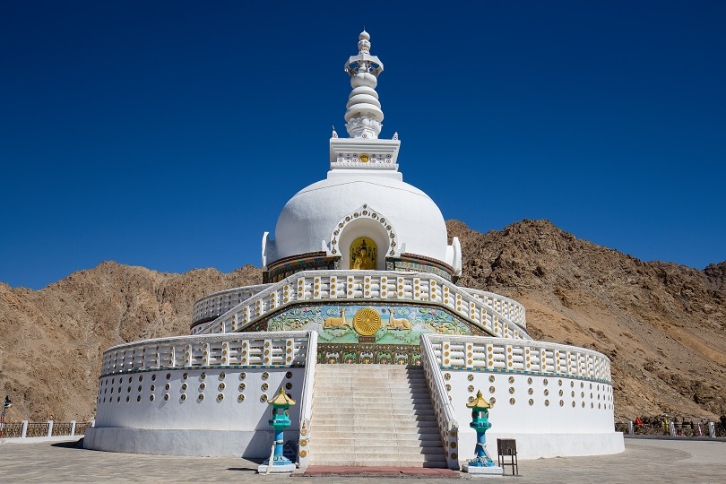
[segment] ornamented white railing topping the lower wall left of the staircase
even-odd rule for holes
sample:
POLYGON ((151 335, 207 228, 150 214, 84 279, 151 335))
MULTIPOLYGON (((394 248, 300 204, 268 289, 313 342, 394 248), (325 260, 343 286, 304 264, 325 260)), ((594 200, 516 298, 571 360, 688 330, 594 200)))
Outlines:
POLYGON ((103 352, 101 378, 160 368, 212 366, 304 366, 305 331, 226 333, 157 338, 119 344, 103 352))

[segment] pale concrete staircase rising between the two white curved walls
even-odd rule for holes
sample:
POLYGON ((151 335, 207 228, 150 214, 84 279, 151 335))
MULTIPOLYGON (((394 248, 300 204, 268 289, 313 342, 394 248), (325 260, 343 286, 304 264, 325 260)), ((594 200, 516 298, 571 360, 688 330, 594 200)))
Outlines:
POLYGON ((421 367, 317 365, 309 465, 446 467, 421 367))

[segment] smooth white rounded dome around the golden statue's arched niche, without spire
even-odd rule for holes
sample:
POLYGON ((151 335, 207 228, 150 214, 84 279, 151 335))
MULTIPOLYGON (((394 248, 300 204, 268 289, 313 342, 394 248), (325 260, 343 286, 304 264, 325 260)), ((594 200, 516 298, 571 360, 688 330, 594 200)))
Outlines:
POLYGON ((321 249, 332 252, 338 246, 337 254, 345 260, 346 247, 355 238, 369 237, 376 241, 381 257, 411 253, 452 262, 447 257, 441 211, 397 172, 361 176, 360 172, 331 171, 326 179, 303 188, 285 204, 274 233, 275 259, 321 249), (336 237, 337 244, 333 243, 336 237))

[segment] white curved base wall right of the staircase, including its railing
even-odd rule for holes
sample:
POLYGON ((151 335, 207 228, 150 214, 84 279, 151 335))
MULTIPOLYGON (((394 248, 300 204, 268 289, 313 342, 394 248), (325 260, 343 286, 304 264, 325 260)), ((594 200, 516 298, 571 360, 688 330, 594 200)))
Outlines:
POLYGON ((609 359, 592 350, 539 341, 422 335, 430 341, 459 423, 459 458, 474 454, 466 408, 478 391, 493 407, 489 454, 514 438, 521 459, 618 454, 609 359))

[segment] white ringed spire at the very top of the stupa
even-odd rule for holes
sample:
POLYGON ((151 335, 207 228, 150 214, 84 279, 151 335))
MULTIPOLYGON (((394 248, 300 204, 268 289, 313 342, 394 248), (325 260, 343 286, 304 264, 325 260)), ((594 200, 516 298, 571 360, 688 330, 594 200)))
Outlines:
POLYGON ((370 55, 370 35, 366 30, 360 32, 358 49, 358 56, 350 56, 345 65, 353 88, 346 105, 345 128, 351 138, 376 139, 383 126, 383 111, 376 92, 383 63, 370 55))

